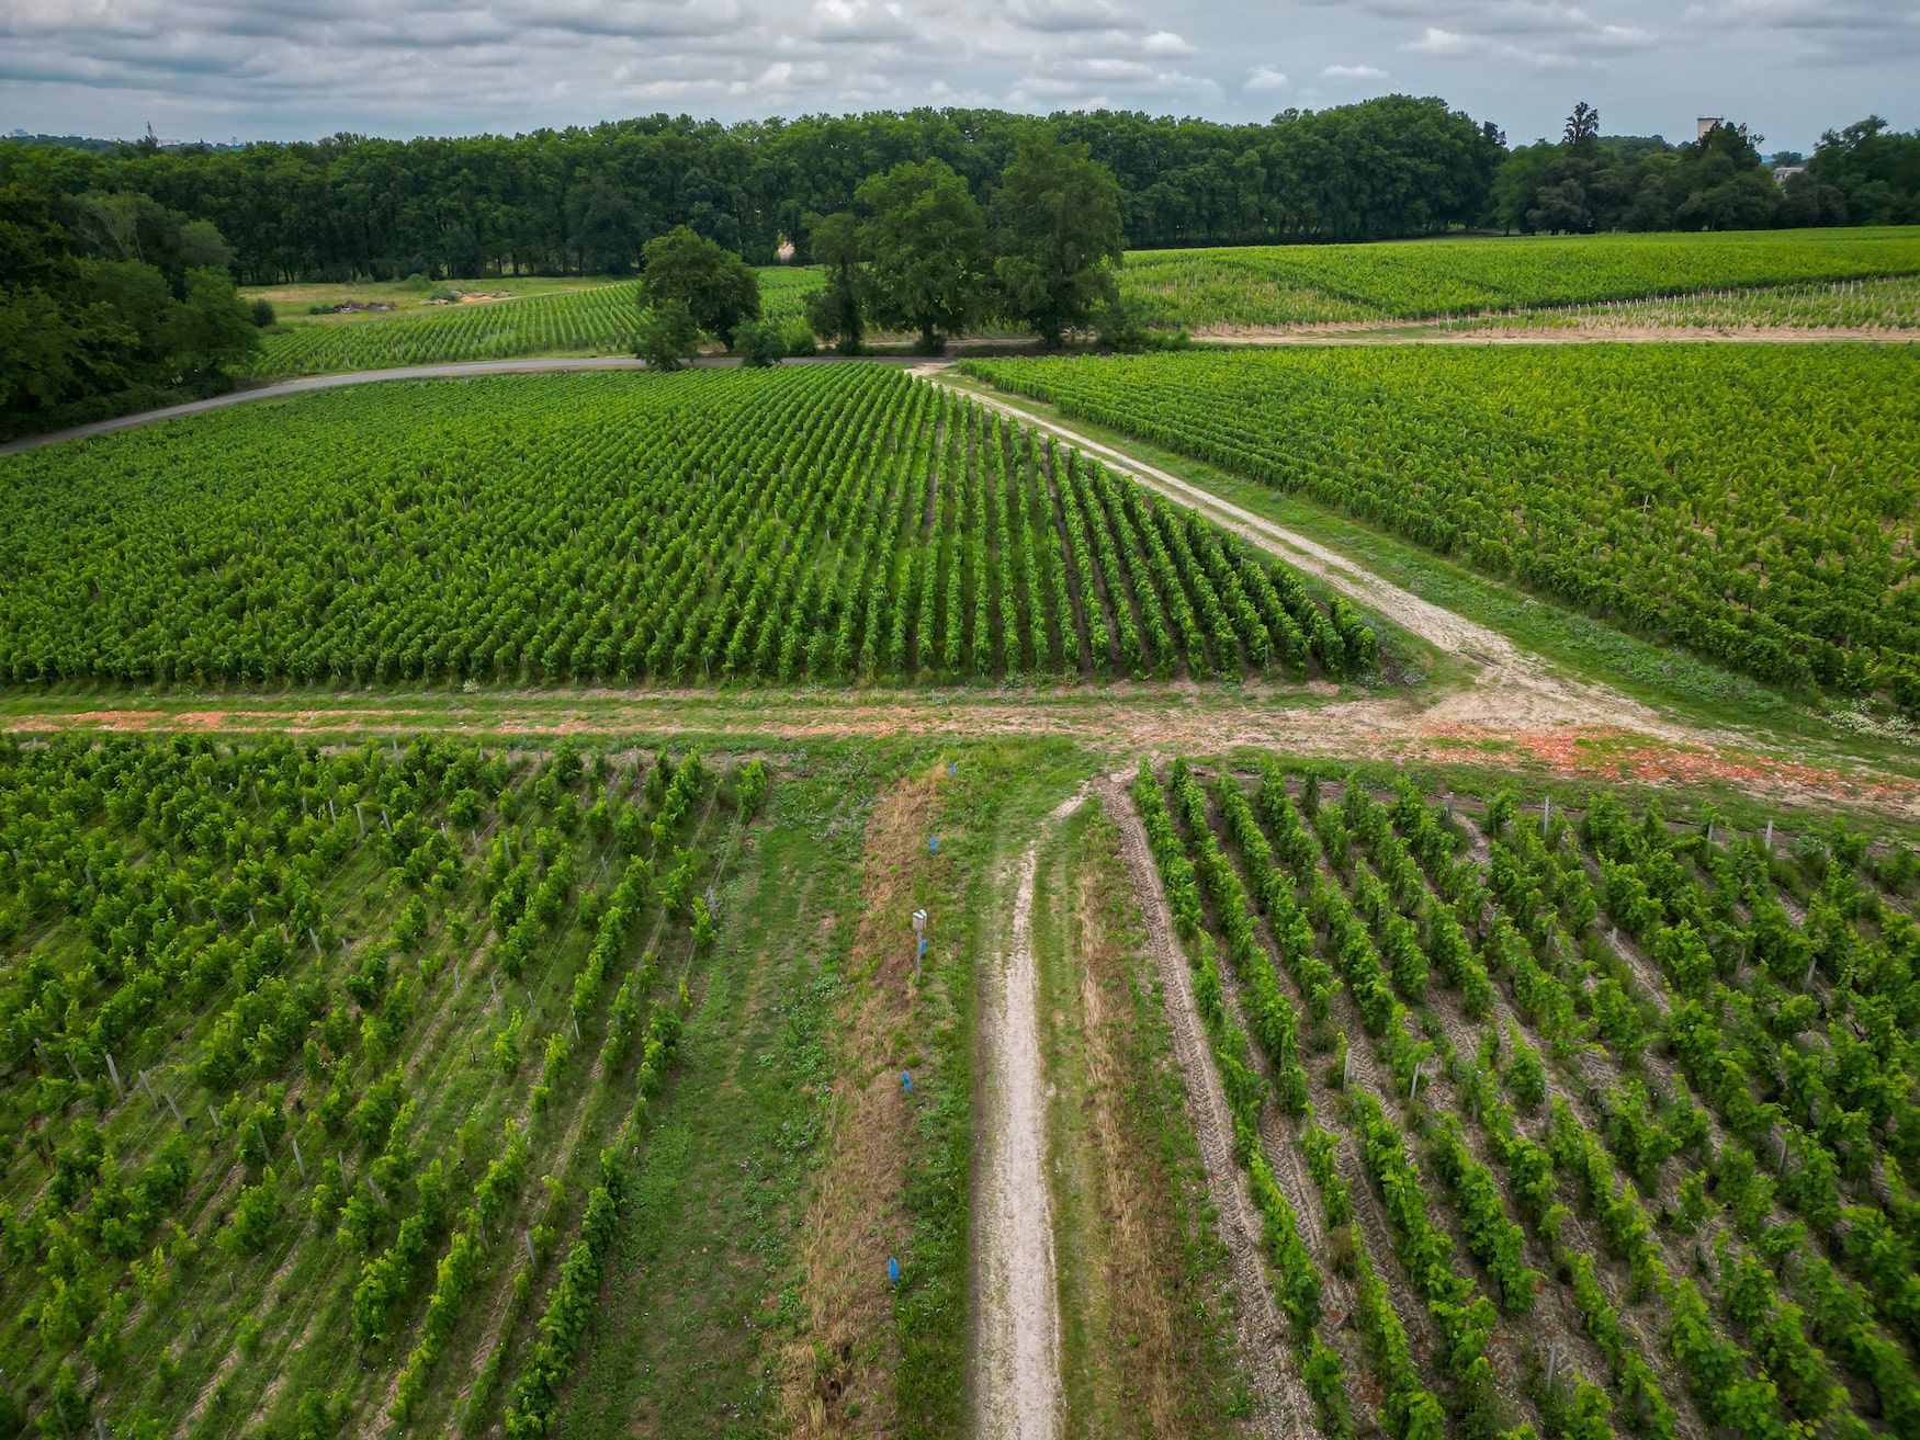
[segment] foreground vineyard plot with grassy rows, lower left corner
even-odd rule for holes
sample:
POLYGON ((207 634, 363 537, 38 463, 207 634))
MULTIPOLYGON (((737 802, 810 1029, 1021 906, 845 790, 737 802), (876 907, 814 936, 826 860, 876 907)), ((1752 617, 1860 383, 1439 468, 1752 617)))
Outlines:
POLYGON ((545 1434, 766 789, 691 753, 10 743, 0 1419, 545 1434))

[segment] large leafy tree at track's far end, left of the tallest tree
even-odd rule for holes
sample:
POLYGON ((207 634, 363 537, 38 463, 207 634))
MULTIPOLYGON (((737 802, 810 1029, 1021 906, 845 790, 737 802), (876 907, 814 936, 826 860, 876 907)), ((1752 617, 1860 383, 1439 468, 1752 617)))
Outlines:
POLYGON ((941 159, 902 161, 854 196, 870 317, 918 330, 927 351, 964 334, 987 292, 987 217, 966 180, 941 159))

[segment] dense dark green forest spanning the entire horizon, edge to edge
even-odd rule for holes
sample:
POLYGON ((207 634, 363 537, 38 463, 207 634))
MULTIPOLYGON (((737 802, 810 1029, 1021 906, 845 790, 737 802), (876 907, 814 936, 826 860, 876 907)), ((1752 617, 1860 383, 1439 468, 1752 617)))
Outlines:
POLYGON ((242 282, 620 273, 689 225, 753 263, 808 253, 808 215, 852 205, 900 161, 950 165, 989 204, 1021 134, 1085 144, 1119 182, 1133 250, 1507 230, 1755 228, 1920 221, 1920 132, 1830 132, 1786 188, 1757 138, 1603 138, 1582 106, 1561 142, 1509 154, 1436 98, 1384 96, 1265 125, 1131 111, 916 109, 720 125, 653 115, 520 136, 111 150, 0 142, 0 182, 136 190, 211 221, 242 282))

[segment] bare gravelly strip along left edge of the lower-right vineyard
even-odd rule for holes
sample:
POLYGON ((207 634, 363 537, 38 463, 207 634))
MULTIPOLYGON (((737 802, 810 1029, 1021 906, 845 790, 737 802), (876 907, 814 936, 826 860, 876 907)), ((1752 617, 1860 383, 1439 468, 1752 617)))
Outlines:
POLYGON ((1313 1407, 1306 1396, 1306 1388, 1290 1369, 1283 1369, 1275 1359, 1284 1344, 1286 1325, 1273 1300, 1273 1288, 1267 1284, 1267 1273, 1260 1256, 1260 1217, 1254 1212, 1252 1196, 1246 1192, 1246 1183, 1240 1177, 1240 1167, 1233 1158, 1233 1142, 1229 1140, 1233 1119, 1227 1112, 1227 1092, 1208 1052, 1206 1031, 1200 1025, 1200 1008, 1194 1002, 1192 975, 1187 970, 1187 958, 1173 939, 1167 897, 1146 847, 1146 831, 1117 780, 1096 781, 1094 793, 1119 831, 1121 860, 1140 904, 1146 948, 1152 954, 1154 972, 1160 975, 1173 1058, 1181 1068, 1181 1081, 1187 1089, 1187 1114, 1200 1146, 1208 1194, 1215 1206, 1213 1225, 1221 1246, 1227 1250, 1235 1296, 1233 1325, 1240 1342, 1240 1363, 1248 1388, 1254 1392, 1260 1434, 1269 1440, 1311 1436, 1315 1434, 1309 1423, 1313 1407))

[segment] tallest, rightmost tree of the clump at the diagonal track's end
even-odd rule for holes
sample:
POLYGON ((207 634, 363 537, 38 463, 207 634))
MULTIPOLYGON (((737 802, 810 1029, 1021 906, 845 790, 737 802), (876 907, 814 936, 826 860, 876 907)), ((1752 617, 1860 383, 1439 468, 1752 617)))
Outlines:
POLYGON ((987 211, 993 273, 1008 319, 1058 346, 1117 294, 1119 184, 1087 146, 1020 136, 987 211))

